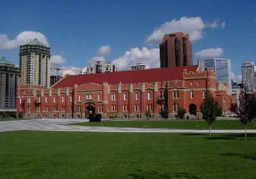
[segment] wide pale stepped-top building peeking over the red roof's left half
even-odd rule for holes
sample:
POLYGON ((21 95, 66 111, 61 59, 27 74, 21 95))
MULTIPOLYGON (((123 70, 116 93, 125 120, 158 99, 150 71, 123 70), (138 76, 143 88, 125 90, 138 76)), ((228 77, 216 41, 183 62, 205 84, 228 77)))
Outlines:
POLYGON ((80 74, 91 74, 91 73, 108 73, 117 71, 117 67, 107 61, 97 61, 92 66, 86 66, 82 69, 80 74))

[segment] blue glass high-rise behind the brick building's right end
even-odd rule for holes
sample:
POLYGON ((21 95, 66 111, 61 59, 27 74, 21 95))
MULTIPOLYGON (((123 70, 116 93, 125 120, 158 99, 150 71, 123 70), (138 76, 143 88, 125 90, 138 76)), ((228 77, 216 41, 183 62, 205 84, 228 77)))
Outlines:
POLYGON ((204 68, 212 68, 217 75, 218 83, 227 83, 231 92, 231 61, 230 59, 205 59, 204 68))

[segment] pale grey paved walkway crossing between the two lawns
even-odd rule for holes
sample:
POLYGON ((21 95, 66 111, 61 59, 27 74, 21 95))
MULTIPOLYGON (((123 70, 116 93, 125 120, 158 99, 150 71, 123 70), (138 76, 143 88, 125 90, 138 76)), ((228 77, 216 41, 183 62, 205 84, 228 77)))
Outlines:
MULTIPOLYGON (((206 133, 208 130, 196 129, 144 129, 132 127, 90 127, 79 125, 67 125, 77 122, 88 122, 82 119, 31 119, 0 122, 0 132, 6 131, 79 131, 79 132, 180 132, 180 133, 206 133)), ((212 133, 243 133, 240 129, 212 130, 212 133)), ((256 129, 247 130, 248 133, 256 133, 256 129)))

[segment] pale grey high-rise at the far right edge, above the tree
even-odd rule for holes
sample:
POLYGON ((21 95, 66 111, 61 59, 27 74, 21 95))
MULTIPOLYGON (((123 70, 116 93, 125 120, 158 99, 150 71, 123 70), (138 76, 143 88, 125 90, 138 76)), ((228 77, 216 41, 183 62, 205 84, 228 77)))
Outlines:
POLYGON ((242 83, 246 92, 256 91, 256 76, 254 62, 243 62, 242 83))

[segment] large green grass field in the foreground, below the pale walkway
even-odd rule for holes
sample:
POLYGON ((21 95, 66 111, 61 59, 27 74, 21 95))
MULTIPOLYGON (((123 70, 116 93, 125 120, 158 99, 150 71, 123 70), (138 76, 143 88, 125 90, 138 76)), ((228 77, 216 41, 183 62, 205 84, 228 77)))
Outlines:
POLYGON ((0 178, 255 179, 256 136, 0 133, 0 178))

